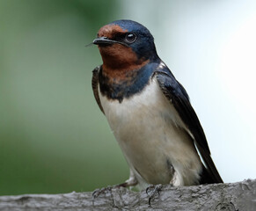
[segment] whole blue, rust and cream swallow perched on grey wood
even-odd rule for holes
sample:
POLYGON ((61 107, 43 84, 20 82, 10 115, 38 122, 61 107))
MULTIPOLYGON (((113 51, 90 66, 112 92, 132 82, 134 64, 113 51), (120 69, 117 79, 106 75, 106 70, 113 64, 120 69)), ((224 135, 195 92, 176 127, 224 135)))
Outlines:
POLYGON ((143 25, 117 20, 99 29, 103 64, 92 89, 128 162, 121 186, 222 183, 187 91, 157 55, 143 25))

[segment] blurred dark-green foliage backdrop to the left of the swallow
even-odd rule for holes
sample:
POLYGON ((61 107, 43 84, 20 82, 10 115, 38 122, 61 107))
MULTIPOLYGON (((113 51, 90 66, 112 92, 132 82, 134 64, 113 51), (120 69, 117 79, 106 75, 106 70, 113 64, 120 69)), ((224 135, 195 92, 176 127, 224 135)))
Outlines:
POLYGON ((91 191, 128 167, 91 91, 115 1, 0 1, 0 194, 91 191), (117 171, 118 170, 118 171, 117 171))

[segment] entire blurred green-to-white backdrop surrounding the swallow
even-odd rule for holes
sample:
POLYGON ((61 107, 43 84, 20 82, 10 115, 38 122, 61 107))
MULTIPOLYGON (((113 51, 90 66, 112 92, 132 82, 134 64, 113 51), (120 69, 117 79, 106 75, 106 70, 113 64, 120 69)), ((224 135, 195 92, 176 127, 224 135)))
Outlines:
POLYGON ((154 35, 223 180, 256 177, 254 0, 0 0, 0 195, 92 191, 128 178, 91 91, 99 50, 85 47, 121 18, 154 35))

